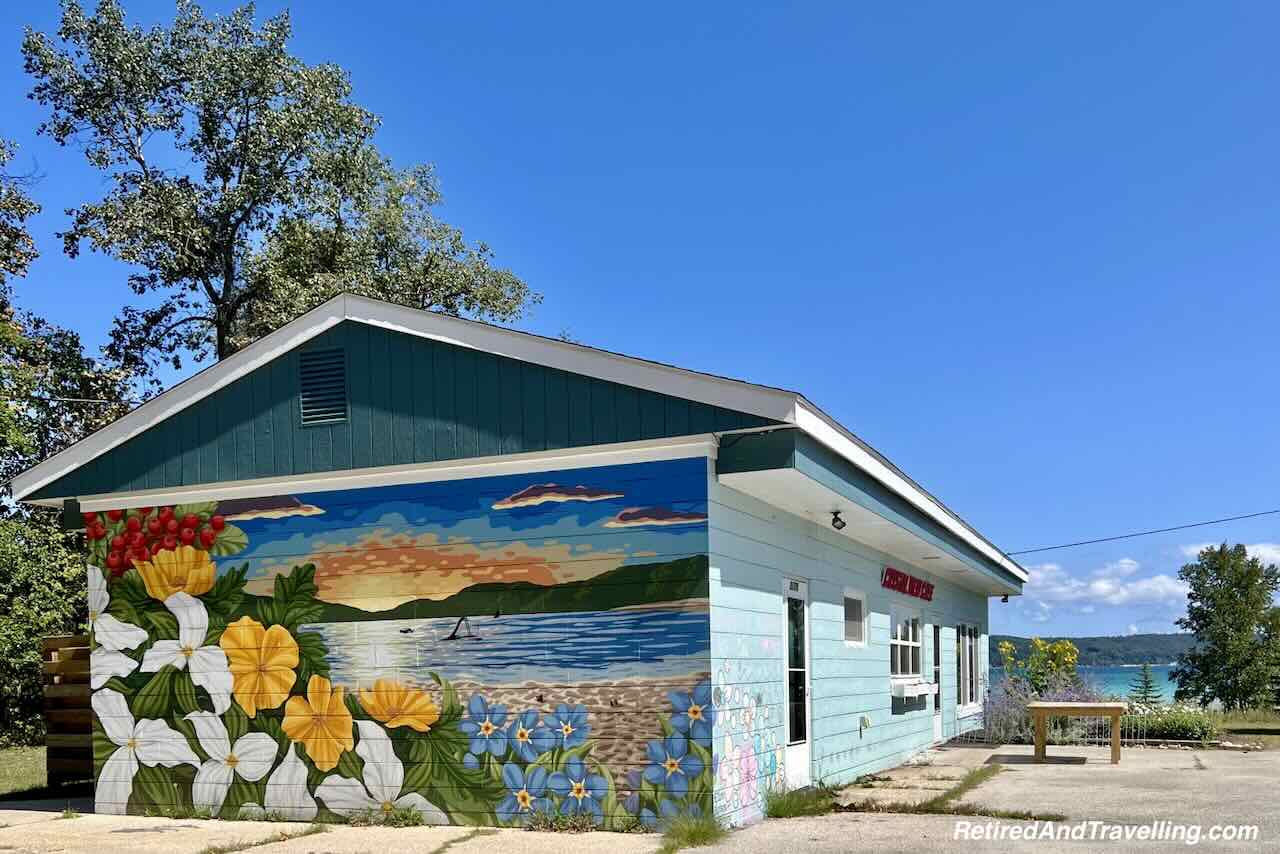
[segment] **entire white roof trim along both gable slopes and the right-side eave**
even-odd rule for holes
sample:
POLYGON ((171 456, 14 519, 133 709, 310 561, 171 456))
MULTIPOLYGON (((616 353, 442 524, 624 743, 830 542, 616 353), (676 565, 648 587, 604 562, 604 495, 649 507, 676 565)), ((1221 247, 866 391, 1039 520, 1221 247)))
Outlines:
MULTIPOLYGON (((852 434, 795 392, 701 374, 348 293, 333 297, 244 350, 178 383, 164 394, 143 403, 97 433, 22 472, 10 484, 13 498, 22 501, 67 472, 128 442, 159 421, 177 415, 343 320, 353 320, 457 347, 467 347, 662 394, 700 401, 783 424, 794 424, 910 501, 931 519, 1007 568, 1016 577, 1027 580, 1027 572, 1018 563, 957 521, 928 493, 910 483, 901 472, 886 465, 876 455, 868 452, 861 443, 854 439, 852 434)), ((97 498, 95 497, 95 499, 97 498)))

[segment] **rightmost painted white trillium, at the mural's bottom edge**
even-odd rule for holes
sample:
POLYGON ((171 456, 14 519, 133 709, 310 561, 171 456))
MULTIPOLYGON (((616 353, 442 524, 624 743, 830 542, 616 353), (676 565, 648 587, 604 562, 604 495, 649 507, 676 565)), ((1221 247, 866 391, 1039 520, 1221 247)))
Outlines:
POLYGON ((428 825, 448 825, 448 816, 416 791, 399 796, 404 766, 392 749, 387 732, 372 721, 356 721, 356 727, 360 730, 356 753, 365 761, 364 784, 334 775, 316 787, 316 798, 339 816, 407 808, 420 812, 428 825))

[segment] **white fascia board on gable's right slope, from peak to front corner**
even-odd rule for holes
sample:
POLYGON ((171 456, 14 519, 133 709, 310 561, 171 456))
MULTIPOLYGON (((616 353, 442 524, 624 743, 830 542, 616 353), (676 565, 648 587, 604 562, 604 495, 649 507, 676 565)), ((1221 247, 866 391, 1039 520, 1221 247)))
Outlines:
POLYGON ((795 392, 700 374, 607 350, 571 344, 476 320, 406 309, 356 294, 347 296, 347 318, 370 326, 700 401, 774 421, 791 423, 799 398, 795 392))

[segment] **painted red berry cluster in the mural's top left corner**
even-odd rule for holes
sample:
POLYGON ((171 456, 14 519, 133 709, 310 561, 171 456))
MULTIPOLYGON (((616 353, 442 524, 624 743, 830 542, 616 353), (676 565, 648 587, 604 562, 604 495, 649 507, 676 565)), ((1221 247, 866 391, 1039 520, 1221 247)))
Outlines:
POLYGON ((227 526, 227 520, 221 516, 210 516, 205 522, 195 513, 179 519, 173 507, 138 507, 131 511, 84 513, 86 536, 91 540, 106 539, 108 522, 116 531, 111 535, 106 552, 106 568, 114 576, 124 575, 133 563, 150 561, 154 554, 172 552, 179 545, 209 551, 218 539, 218 531, 227 526), (120 520, 124 520, 123 525, 120 520))

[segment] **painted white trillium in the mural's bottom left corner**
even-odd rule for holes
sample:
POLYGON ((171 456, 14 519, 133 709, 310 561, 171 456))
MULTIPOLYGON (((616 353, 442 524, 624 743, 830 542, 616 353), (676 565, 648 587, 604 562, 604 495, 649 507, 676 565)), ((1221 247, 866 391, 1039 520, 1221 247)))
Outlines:
POLYGON ((187 744, 182 732, 164 721, 143 718, 134 722, 124 697, 111 689, 93 694, 90 704, 106 737, 115 750, 102 764, 102 773, 93 787, 93 812, 123 816, 133 794, 133 776, 138 764, 148 768, 180 764, 200 766, 200 757, 187 744))

